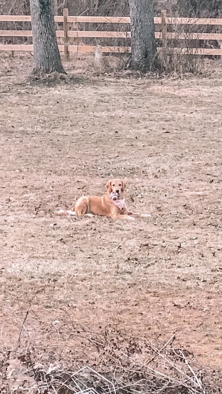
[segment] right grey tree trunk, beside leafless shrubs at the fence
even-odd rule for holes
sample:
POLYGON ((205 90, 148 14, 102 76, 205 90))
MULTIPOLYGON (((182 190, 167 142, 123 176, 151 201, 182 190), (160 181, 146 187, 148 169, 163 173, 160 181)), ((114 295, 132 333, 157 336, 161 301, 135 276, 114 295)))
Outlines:
POLYGON ((133 70, 156 68, 156 41, 153 23, 153 0, 129 0, 131 19, 131 60, 133 70))

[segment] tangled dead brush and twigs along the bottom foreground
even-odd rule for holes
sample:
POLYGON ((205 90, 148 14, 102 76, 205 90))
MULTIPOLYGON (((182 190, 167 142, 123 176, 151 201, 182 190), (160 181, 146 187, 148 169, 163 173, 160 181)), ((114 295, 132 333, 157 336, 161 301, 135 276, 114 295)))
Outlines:
POLYGON ((164 343, 151 342, 111 324, 95 333, 69 310, 64 321, 50 322, 36 332, 38 326, 31 323, 29 330, 30 316, 26 318, 16 349, 1 353, 2 394, 220 392, 221 372, 200 366, 190 351, 173 346, 175 334, 164 343), (53 338, 48 345, 44 333, 53 338))

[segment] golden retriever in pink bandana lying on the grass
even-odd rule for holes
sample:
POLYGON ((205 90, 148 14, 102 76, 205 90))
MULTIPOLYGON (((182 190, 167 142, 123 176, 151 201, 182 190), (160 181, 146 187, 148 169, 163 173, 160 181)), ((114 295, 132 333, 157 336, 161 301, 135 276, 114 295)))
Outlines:
POLYGON ((106 184, 106 194, 102 197, 90 196, 80 197, 75 206, 69 211, 55 211, 55 214, 62 216, 71 215, 99 215, 111 217, 111 219, 135 220, 136 217, 150 217, 148 214, 138 214, 129 212, 124 199, 126 184, 122 179, 111 179, 106 184))

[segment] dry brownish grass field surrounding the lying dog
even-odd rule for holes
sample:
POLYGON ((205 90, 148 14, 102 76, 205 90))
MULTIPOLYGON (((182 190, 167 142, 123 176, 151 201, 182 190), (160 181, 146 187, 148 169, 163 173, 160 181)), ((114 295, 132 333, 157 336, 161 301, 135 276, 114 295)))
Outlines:
POLYGON ((80 336, 67 334, 75 321, 74 331, 162 341, 175 332, 202 365, 222 368, 221 74, 46 87, 22 82, 27 59, 5 68, 1 349, 71 352, 93 365, 80 336), (129 209, 151 218, 53 214, 102 195, 112 177, 126 180, 129 209))

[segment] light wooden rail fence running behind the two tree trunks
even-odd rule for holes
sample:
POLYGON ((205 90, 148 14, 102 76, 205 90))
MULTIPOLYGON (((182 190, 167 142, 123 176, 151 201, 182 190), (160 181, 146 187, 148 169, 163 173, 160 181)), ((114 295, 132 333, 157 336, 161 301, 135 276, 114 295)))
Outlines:
MULTIPOLYGON (((0 22, 31 22, 29 15, 0 15, 0 22)), ((56 36, 63 38, 63 45, 58 45, 60 52, 64 52, 65 58, 69 59, 70 52, 95 52, 96 45, 70 45, 70 38, 115 38, 129 39, 130 31, 107 31, 107 30, 70 30, 70 24, 75 26, 81 23, 104 23, 104 24, 130 24, 129 17, 85 17, 69 16, 68 9, 63 10, 63 16, 55 16, 55 22, 63 23, 63 30, 56 30, 56 36)), ((166 10, 161 11, 160 17, 154 18, 154 24, 160 26, 161 32, 155 32, 156 39, 161 39, 163 46, 168 40, 216 40, 220 48, 173 48, 183 54, 222 56, 222 33, 184 33, 178 32, 178 25, 222 25, 220 18, 177 18, 167 17, 166 10), (171 30, 167 32, 167 26, 171 30), (177 28, 177 29, 176 29, 177 28), (177 31, 176 31, 177 30, 177 31)), ((31 30, 0 30, 0 37, 32 37, 31 30)), ((33 51, 33 45, 0 44, 1 51, 33 51)), ((130 52, 130 46, 102 46, 102 52, 124 53, 130 52)))

